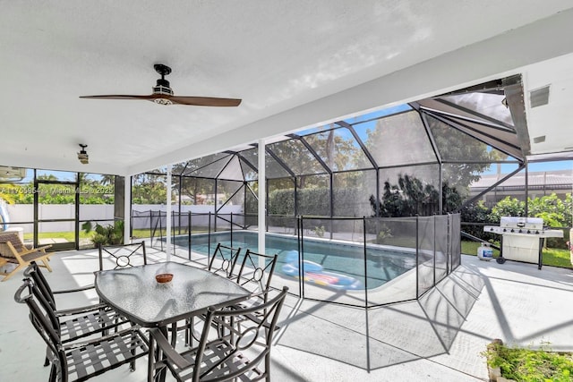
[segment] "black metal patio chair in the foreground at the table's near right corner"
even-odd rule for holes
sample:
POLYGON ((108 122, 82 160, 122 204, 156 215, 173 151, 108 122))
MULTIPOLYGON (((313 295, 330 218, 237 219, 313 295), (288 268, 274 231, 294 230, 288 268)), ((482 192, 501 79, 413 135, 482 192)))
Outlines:
POLYGON ((244 310, 209 310, 199 344, 184 352, 177 352, 160 329, 150 329, 150 350, 156 356, 149 357, 149 378, 167 367, 177 381, 270 381, 273 332, 287 291, 285 286, 274 298, 244 310), (236 317, 249 317, 255 310, 265 312, 260 321, 234 324, 236 317), (221 327, 233 335, 219 336, 221 327))

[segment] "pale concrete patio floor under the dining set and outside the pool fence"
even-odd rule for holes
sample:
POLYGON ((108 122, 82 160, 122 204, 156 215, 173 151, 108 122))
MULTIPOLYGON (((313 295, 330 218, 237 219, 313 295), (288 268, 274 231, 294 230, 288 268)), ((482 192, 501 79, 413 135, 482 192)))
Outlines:
MULTIPOLYGON (((150 261, 165 254, 148 250, 150 261)), ((185 262, 184 259, 172 258, 185 262)), ((91 284, 97 250, 59 252, 47 279, 54 289, 91 284)), ((0 381, 47 380, 45 345, 27 307, 13 301, 20 276, 0 284, 0 381)), ((97 301, 86 293, 58 308, 97 301)), ((272 380, 487 380, 480 355, 493 338, 507 344, 573 351, 573 271, 462 256, 462 265, 419 301, 363 310, 288 296, 272 350, 272 380)), ((142 381, 137 370, 112 370, 91 380, 142 381)), ((172 380, 168 378, 168 380, 172 380)))

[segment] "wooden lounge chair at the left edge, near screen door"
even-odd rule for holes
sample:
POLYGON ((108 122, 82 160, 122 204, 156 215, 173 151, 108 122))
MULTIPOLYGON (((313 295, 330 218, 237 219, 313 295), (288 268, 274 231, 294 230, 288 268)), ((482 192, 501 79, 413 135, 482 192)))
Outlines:
POLYGON ((20 269, 28 267, 32 261, 41 261, 42 264, 38 264, 38 266, 46 267, 51 272, 52 268, 47 261, 52 256, 52 253, 46 253, 46 250, 50 247, 51 245, 45 245, 29 249, 21 242, 18 233, 0 232, 0 267, 7 264, 16 265, 11 271, 0 272, 0 275, 4 275, 2 281, 12 277, 20 269))

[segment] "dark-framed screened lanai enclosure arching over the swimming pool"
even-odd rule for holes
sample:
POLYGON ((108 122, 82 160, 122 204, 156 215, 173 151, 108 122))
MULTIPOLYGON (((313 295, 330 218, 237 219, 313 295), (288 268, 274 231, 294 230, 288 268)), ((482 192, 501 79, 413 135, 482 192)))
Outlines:
MULTIPOLYGON (((479 197, 470 184, 500 164, 516 174, 528 145, 520 76, 266 140, 271 284, 365 307, 418 298, 459 265, 459 211, 479 197)), ((177 254, 209 256, 218 242, 257 250, 259 152, 252 143, 172 167, 177 254)), ((134 177, 133 196, 166 176, 134 177)), ((165 211, 133 205, 132 227, 153 245, 166 225, 165 211)))

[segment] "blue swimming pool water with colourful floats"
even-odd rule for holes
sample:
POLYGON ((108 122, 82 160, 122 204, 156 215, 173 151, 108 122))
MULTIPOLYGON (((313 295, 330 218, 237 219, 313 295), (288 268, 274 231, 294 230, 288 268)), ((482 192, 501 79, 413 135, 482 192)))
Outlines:
MULTIPOLYGON (((202 254, 215 250, 217 243, 257 251, 257 233, 234 232, 233 241, 229 232, 211 233, 210 247, 207 234, 193 234, 191 249, 202 254)), ((188 238, 175 237, 175 245, 187 248, 188 238)), ((267 234, 267 254, 278 254, 275 272, 281 276, 298 276, 298 244, 295 237, 267 234), (295 268, 294 268, 295 267, 295 268)), ((376 288, 415 267, 415 254, 406 251, 367 248, 364 269, 362 245, 338 242, 304 240, 304 272, 308 282, 338 289, 376 288), (366 275, 366 276, 365 276, 366 275)))

